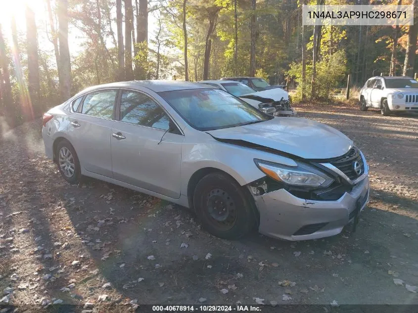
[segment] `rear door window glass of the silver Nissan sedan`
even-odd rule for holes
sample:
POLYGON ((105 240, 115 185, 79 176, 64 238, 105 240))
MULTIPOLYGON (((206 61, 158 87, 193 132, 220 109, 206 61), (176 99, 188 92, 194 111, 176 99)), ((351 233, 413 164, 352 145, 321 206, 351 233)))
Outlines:
POLYGON ((84 99, 81 113, 111 119, 116 93, 116 90, 101 90, 89 93, 84 99))

